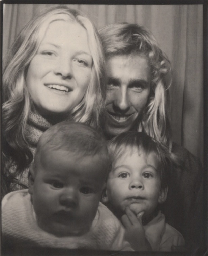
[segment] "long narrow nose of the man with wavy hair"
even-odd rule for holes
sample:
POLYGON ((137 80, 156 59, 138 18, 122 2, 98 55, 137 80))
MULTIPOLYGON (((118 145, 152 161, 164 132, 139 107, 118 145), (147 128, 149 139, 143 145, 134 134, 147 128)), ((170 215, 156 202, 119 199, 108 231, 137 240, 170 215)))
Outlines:
POLYGON ((130 101, 127 88, 120 87, 118 93, 115 96, 116 99, 114 101, 114 105, 121 111, 129 110, 130 101))

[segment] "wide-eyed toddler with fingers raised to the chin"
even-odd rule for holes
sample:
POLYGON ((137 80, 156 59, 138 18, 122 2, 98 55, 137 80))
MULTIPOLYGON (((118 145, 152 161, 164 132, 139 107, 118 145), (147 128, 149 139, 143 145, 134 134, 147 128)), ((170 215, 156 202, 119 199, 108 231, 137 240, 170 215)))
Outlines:
MULTIPOLYGON (((135 251, 171 251, 184 239, 165 223, 159 205, 168 192, 165 152, 141 132, 125 132, 110 141, 112 169, 103 202, 121 219, 135 251)), ((177 249, 176 249, 177 250, 177 249)))

